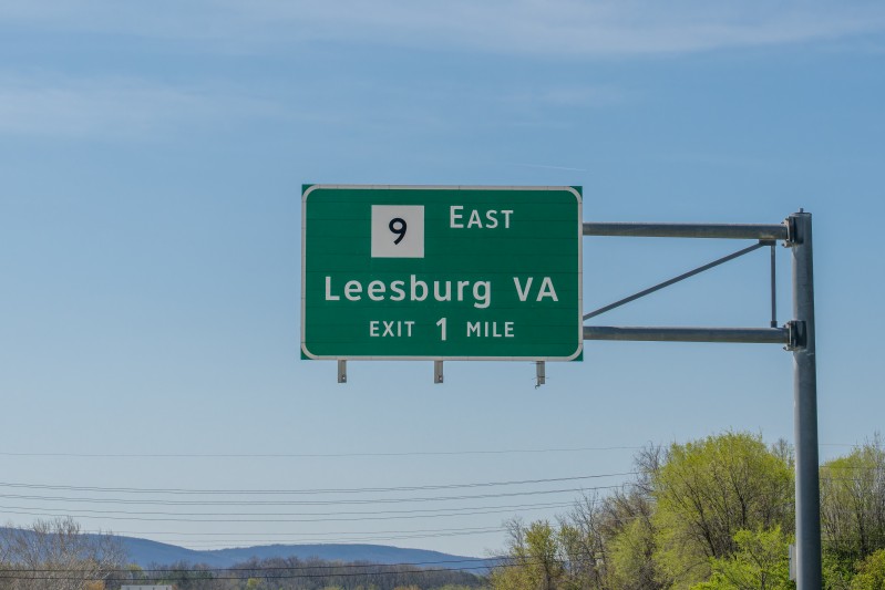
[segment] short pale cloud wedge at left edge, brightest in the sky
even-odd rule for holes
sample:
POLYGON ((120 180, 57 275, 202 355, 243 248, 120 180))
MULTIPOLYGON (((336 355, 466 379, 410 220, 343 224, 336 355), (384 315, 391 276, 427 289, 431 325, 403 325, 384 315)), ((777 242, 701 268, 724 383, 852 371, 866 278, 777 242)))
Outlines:
POLYGON ((133 79, 0 75, 0 134, 154 138, 267 104, 133 79))

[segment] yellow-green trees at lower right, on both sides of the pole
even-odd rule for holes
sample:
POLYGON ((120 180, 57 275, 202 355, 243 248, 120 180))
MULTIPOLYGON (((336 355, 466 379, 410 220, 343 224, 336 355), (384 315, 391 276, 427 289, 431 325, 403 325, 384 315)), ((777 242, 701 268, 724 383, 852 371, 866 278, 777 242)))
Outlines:
MULTIPOLYGON (((794 464, 781 441, 726 433, 635 458, 636 476, 556 522, 508 522, 494 590, 792 589, 794 464)), ((821 467, 825 588, 885 590, 878 436, 821 467)))

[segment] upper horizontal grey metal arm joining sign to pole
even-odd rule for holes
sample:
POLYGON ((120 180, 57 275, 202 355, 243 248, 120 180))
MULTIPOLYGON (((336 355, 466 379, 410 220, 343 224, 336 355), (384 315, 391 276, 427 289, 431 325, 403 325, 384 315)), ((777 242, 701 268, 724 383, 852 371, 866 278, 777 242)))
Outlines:
POLYGON ((624 236, 634 238, 726 238, 785 240, 784 224, 620 224, 584 222, 585 236, 624 236))

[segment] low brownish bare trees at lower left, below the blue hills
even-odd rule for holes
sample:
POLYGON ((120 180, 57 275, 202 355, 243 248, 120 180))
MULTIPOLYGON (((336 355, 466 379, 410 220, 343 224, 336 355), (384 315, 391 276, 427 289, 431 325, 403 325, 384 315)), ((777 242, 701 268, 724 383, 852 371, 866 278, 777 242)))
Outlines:
POLYGON ((126 565, 119 539, 85 535, 70 518, 0 529, 0 590, 117 590, 168 584, 175 590, 472 590, 476 563, 378 565, 321 559, 253 559, 233 568, 126 565), (449 569, 459 566, 464 570, 449 569))

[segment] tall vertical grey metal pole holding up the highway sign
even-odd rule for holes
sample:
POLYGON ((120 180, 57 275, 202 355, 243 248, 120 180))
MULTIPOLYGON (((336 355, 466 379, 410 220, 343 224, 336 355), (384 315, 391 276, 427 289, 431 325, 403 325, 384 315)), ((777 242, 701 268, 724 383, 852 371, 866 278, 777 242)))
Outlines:
POLYGON ((793 250, 793 421, 796 445, 796 589, 820 590, 821 483, 817 457, 817 369, 814 359, 814 273, 811 214, 790 216, 793 250))

